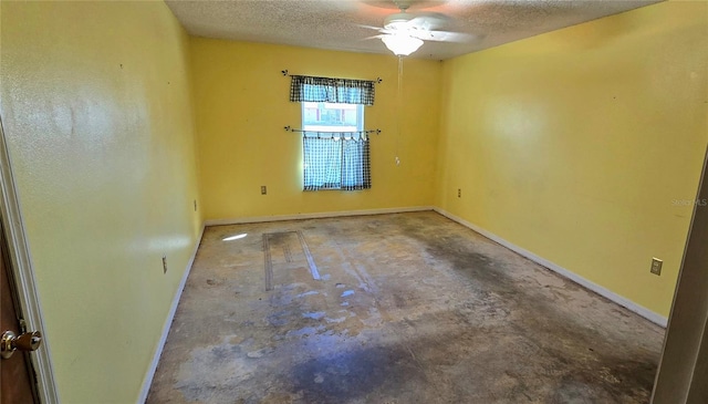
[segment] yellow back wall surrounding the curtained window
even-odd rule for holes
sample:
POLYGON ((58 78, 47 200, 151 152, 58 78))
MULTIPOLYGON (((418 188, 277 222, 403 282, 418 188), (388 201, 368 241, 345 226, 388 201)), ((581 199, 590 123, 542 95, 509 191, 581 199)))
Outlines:
POLYGON ((434 200, 440 62, 406 59, 403 114, 393 55, 191 39, 201 196, 205 218, 429 206, 434 200), (289 101, 292 74, 373 80, 365 107, 373 135, 372 189, 302 191, 300 103, 289 101), (404 116, 398 136, 398 116, 404 116), (396 155, 400 165, 396 166, 396 155), (260 195, 260 186, 268 195, 260 195))

